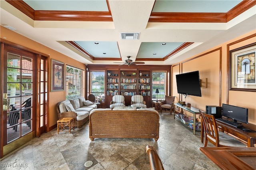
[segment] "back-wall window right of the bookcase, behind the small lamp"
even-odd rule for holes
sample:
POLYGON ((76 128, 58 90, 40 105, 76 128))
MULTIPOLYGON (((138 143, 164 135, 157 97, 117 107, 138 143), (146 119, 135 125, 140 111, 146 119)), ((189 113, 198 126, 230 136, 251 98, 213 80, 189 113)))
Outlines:
POLYGON ((166 94, 166 72, 152 72, 152 100, 164 100, 166 94), (159 93, 156 93, 158 89, 159 93))

